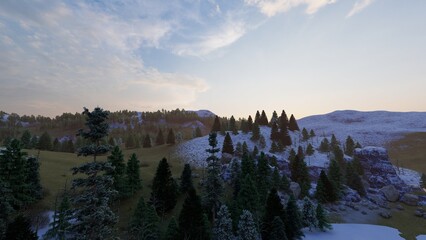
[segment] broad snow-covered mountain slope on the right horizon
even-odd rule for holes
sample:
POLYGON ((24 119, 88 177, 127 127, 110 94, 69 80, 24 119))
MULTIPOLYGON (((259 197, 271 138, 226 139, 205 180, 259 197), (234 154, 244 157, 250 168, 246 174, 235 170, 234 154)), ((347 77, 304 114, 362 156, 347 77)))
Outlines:
POLYGON ((362 145, 385 146, 410 132, 426 132, 426 112, 335 111, 298 120, 300 128, 317 135, 335 134, 339 140, 352 136, 362 145))

